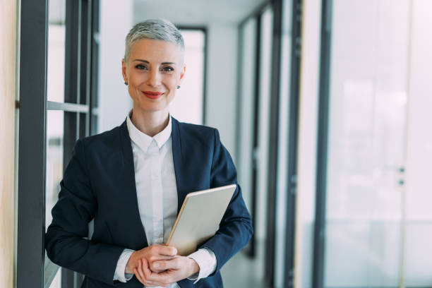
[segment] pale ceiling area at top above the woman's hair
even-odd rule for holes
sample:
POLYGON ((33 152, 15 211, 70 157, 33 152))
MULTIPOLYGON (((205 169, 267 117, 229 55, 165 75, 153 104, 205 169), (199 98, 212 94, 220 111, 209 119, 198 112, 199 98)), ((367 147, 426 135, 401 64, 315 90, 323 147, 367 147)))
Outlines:
POLYGON ((240 23, 267 0, 134 0, 133 19, 166 18, 176 25, 240 23))

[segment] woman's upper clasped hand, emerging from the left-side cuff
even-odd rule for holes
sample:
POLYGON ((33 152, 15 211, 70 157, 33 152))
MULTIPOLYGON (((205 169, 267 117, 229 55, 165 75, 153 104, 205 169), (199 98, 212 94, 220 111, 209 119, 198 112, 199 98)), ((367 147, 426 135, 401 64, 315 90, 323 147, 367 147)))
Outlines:
MULTIPOLYGON (((132 253, 128 263, 126 263, 126 273, 133 273, 134 268, 138 268, 138 262, 141 258, 145 258, 148 263, 153 263, 157 260, 170 260, 177 255, 177 249, 172 246, 156 244, 145 247, 141 250, 132 253)), ((152 270, 152 272, 162 272, 164 269, 152 270)))

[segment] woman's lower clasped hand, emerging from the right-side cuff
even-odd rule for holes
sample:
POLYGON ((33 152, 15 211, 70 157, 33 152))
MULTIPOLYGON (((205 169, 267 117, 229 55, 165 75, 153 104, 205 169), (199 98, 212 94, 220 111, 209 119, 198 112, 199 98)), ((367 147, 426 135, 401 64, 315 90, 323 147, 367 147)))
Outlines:
POLYGON ((133 269, 135 276, 145 287, 168 287, 170 284, 184 280, 200 270, 195 260, 183 256, 176 256, 172 260, 158 260, 151 265, 164 271, 152 272, 145 258, 138 262, 138 269, 133 269))

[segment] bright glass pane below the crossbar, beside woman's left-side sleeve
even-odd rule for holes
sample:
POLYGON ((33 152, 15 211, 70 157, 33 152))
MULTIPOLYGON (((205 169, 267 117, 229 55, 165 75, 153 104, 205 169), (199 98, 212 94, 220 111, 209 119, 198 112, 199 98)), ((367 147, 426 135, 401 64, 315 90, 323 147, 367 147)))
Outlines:
POLYGON ((47 181, 45 194, 45 229, 52 222, 51 210, 59 198, 63 178, 64 112, 47 111, 47 181))

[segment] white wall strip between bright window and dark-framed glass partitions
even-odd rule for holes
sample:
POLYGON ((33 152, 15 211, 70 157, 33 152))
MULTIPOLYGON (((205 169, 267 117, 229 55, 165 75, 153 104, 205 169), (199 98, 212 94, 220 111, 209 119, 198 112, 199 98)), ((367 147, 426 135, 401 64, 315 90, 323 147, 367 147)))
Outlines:
POLYGON ((237 25, 208 26, 205 125, 219 129, 220 138, 235 161, 237 25))

